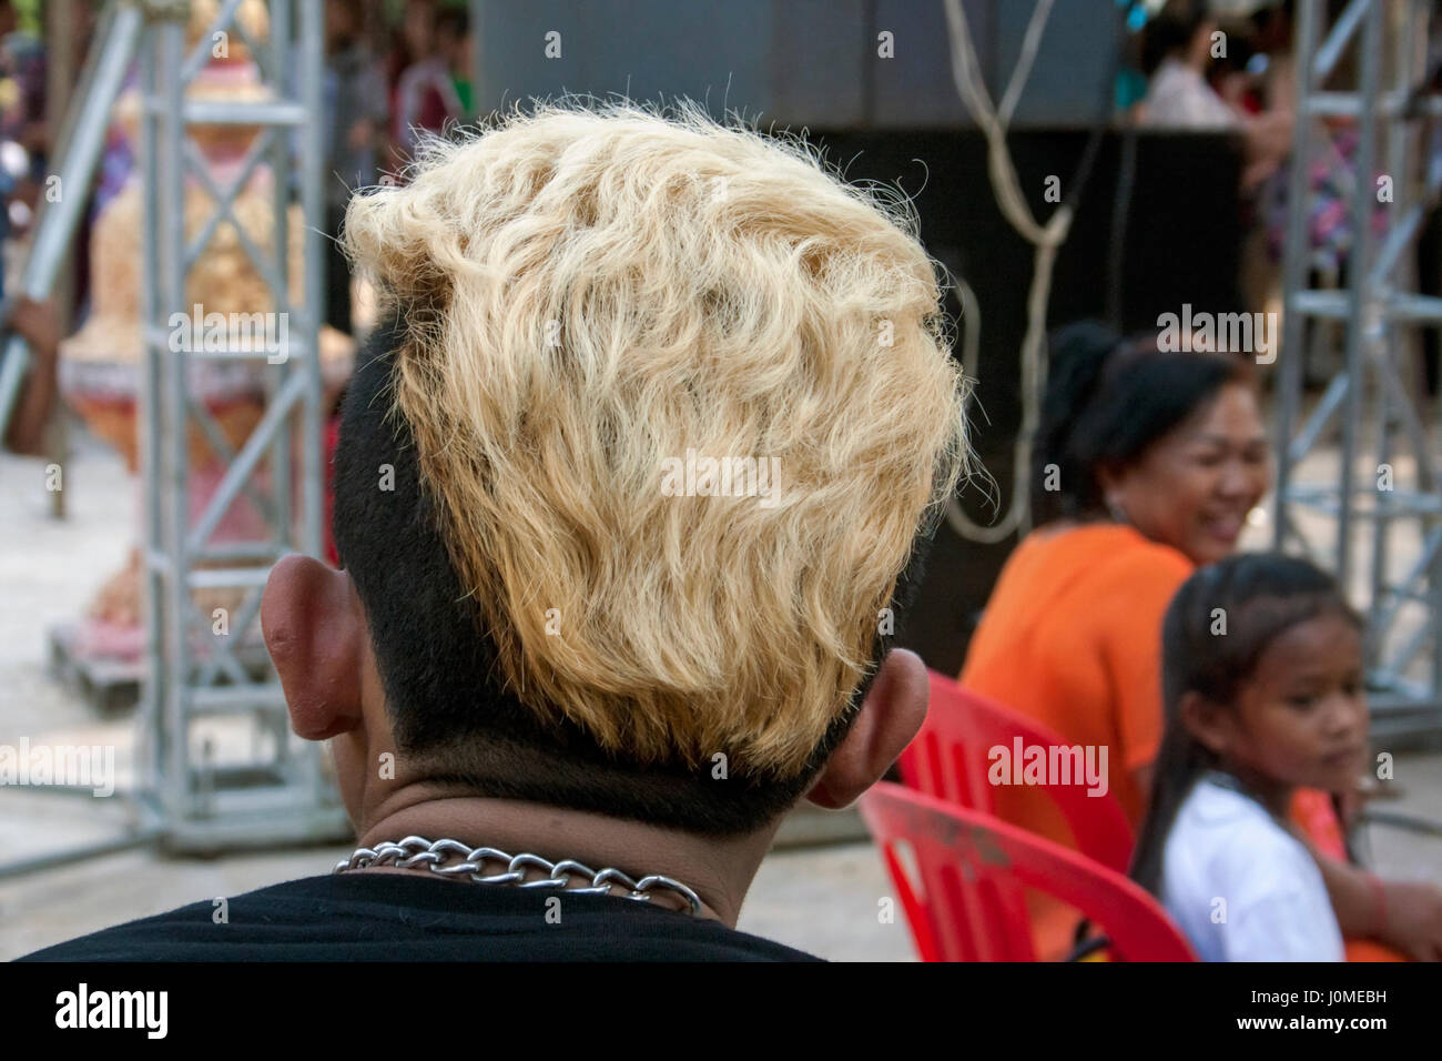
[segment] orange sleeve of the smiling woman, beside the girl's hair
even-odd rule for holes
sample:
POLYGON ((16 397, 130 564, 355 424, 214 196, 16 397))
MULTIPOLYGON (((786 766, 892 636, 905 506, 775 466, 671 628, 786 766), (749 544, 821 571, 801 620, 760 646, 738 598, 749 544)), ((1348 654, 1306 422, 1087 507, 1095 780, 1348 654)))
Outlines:
POLYGON ((1161 749, 1162 619, 1172 596, 1191 575, 1191 564, 1169 549, 1146 549, 1112 564, 1099 611, 1109 621, 1097 624, 1102 657, 1112 681, 1112 704, 1128 771, 1151 764, 1161 749))

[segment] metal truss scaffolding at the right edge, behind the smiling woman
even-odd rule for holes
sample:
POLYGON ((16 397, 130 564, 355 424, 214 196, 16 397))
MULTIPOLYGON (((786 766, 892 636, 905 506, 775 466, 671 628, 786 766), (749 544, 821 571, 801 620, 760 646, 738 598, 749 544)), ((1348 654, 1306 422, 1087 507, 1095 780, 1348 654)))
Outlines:
POLYGON ((1298 4, 1275 534, 1366 602, 1373 732, 1405 741, 1442 732, 1442 450, 1417 355, 1422 329, 1442 325, 1442 299, 1416 292, 1415 266, 1442 191, 1438 140, 1428 154, 1442 97, 1426 89, 1439 16, 1432 0, 1351 0, 1328 25, 1325 7, 1298 4), (1355 139, 1350 160, 1332 150, 1327 123, 1355 139), (1353 189, 1353 238, 1331 287, 1312 251, 1319 159, 1353 189), (1312 406, 1306 351, 1338 332, 1344 368, 1312 406), (1324 447, 1338 439, 1332 468, 1324 447))

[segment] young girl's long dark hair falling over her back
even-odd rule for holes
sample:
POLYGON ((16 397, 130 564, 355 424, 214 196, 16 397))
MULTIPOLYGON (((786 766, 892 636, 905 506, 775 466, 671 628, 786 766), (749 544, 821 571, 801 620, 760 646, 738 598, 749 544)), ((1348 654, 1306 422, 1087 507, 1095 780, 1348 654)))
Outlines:
POLYGON ((1161 892, 1167 834, 1198 775, 1216 756, 1181 722, 1181 703, 1197 693, 1233 706, 1268 647, 1319 615, 1341 615, 1358 629, 1330 575, 1280 553, 1243 553, 1200 569, 1172 598, 1162 622, 1162 700, 1167 730, 1152 780, 1146 820, 1132 853, 1132 879, 1161 892), (1218 625, 1224 624, 1224 625, 1218 625))

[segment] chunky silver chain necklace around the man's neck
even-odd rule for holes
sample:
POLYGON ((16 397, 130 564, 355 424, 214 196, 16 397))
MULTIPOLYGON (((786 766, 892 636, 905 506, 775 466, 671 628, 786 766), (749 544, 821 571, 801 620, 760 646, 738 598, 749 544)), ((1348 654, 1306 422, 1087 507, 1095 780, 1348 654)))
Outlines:
POLYGON ((551 862, 539 855, 508 855, 495 847, 472 847, 460 840, 427 840, 421 836, 408 836, 399 843, 385 840, 375 847, 356 847, 349 859, 337 862, 333 873, 345 873, 352 869, 366 869, 369 866, 395 866, 398 869, 428 869, 431 873, 450 878, 470 878, 476 883, 515 885, 516 888, 565 888, 578 895, 616 895, 613 889, 626 889, 617 898, 634 899, 636 902, 650 902, 650 894, 662 889, 669 891, 686 901, 692 917, 701 914, 701 898, 679 881, 669 876, 652 873, 634 881, 619 869, 596 870, 574 859, 551 862), (459 860, 457 860, 459 859, 459 860), (482 872, 485 862, 506 863, 505 872, 486 876, 482 872), (531 881, 528 875, 544 873, 531 881), (587 878, 588 888, 567 888, 571 876, 587 878))

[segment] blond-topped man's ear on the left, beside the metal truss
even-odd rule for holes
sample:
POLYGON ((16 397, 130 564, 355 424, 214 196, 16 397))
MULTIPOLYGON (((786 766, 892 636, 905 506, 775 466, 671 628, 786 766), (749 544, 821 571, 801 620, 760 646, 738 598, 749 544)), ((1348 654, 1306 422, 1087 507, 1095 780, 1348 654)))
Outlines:
POLYGON ((309 556, 283 557, 265 580, 261 632, 297 736, 326 741, 362 725, 366 624, 349 575, 309 556))

